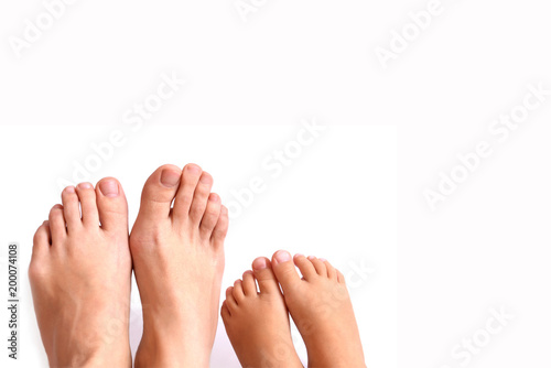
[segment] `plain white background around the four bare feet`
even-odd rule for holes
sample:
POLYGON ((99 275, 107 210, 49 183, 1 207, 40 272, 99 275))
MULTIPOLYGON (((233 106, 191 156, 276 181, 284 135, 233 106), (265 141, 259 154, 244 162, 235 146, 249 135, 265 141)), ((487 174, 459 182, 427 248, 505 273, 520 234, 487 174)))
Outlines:
MULTIPOLYGON (((244 22, 234 0, 78 1, 21 58, 8 40, 22 36, 25 19, 44 8, 2 3, 2 243, 29 243, 57 201, 55 180, 122 125, 161 73, 175 71, 186 86, 94 175, 123 182, 131 215, 156 164, 201 161, 225 198, 293 138, 301 118, 316 116, 331 133, 233 221, 228 255, 239 253, 225 283, 251 257, 287 245, 341 257, 341 267, 359 253, 376 266, 355 297, 371 367, 549 366, 550 96, 507 140, 488 131, 522 104, 527 85, 551 88, 549 6, 443 0, 439 15, 385 68, 375 51, 388 48, 392 32, 412 22, 408 13, 429 1, 255 3, 258 11, 244 22), (398 131, 397 304, 389 274, 396 234, 385 232, 396 225, 393 141, 391 130, 376 126, 398 131), (480 141, 493 154, 432 210, 423 192, 480 141), (332 160, 338 173, 328 174, 332 160), (348 202, 337 199, 337 188, 348 202), (371 201, 377 194, 380 201, 371 201), (490 309, 514 318, 462 365, 452 350, 484 336, 490 309)), ((216 351, 229 354, 219 342, 216 351)), ((31 343, 24 344, 29 357, 31 343)))

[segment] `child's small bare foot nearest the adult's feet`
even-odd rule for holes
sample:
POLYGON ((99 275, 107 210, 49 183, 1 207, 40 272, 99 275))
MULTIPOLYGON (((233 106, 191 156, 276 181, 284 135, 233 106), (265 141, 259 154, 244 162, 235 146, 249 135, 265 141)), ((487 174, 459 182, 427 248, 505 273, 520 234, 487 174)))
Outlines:
POLYGON ((220 314, 242 367, 302 367, 294 350, 289 312, 270 260, 257 258, 253 272, 226 291, 220 314), (255 279, 260 292, 257 292, 255 279))

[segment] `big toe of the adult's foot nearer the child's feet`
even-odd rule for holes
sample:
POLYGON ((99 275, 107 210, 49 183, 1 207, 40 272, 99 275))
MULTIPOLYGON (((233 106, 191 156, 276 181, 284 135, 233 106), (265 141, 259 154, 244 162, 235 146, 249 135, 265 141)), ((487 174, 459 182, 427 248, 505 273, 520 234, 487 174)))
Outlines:
POLYGON ((182 171, 174 165, 163 165, 149 176, 141 194, 139 217, 145 221, 168 219, 176 195, 182 171))

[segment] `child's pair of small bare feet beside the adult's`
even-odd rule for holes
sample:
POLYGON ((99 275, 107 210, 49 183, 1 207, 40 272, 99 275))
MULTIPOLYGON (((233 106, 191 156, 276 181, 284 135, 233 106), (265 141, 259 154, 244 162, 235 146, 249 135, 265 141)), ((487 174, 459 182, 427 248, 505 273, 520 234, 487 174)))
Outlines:
POLYGON ((365 367, 343 274, 324 259, 293 259, 284 250, 271 261, 255 259, 252 271, 226 290, 220 314, 242 367, 302 367, 289 313, 306 345, 309 367, 365 367))

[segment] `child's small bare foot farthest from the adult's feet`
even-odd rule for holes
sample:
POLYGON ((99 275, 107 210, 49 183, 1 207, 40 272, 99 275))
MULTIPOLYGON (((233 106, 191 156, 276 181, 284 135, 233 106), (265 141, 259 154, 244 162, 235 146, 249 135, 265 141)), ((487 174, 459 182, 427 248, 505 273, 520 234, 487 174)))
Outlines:
POLYGON ((272 268, 304 339, 309 367, 365 367, 364 351, 343 274, 326 260, 277 251, 272 268), (296 272, 295 264, 302 273, 296 272))

